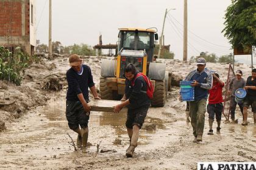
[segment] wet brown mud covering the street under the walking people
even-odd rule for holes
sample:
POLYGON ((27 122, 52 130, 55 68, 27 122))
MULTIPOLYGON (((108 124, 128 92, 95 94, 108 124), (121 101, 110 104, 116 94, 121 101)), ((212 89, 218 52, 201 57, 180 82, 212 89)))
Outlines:
MULTIPOLYGON (((95 62, 98 60, 85 58, 96 84, 100 76, 99 63, 95 62)), ((65 73, 68 69, 63 58, 47 62, 56 65, 48 74, 65 73)), ((36 78, 26 80, 25 84, 34 87, 36 78)), ((168 93, 165 107, 149 109, 135 156, 126 158, 129 137, 125 110, 119 114, 91 112, 90 148, 88 153, 82 153, 74 151, 69 144, 71 139, 67 133, 75 143, 76 134, 69 129, 65 117, 65 86, 59 92, 48 91, 49 100, 43 106, 30 109, 7 123, 7 129, 0 132, 0 169, 197 169, 199 161, 256 161, 256 126, 252 123, 241 126, 242 118, 237 114, 240 124, 225 123, 222 117, 221 134, 207 135, 208 114, 205 113, 203 141, 193 143, 192 127, 186 122, 185 102, 177 100, 179 89, 174 87, 168 93)), ((252 122, 252 114, 249 121, 252 122)), ((213 128, 215 131, 216 122, 213 128)))

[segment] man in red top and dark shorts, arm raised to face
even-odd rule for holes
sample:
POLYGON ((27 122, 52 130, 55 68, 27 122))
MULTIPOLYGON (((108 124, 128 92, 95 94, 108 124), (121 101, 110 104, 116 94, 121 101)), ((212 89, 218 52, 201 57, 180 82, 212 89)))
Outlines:
POLYGON ((213 135, 214 117, 216 117, 218 123, 217 132, 220 132, 221 130, 221 113, 223 109, 222 88, 224 85, 223 81, 219 80, 218 73, 213 73, 213 87, 209 90, 209 103, 207 105, 210 127, 208 135, 213 135))

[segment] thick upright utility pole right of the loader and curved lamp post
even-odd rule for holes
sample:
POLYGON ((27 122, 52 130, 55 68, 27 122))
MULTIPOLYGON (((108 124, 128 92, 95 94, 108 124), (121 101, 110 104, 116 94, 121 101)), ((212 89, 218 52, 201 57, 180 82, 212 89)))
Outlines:
POLYGON ((184 0, 183 16, 183 61, 188 60, 188 1, 184 0))

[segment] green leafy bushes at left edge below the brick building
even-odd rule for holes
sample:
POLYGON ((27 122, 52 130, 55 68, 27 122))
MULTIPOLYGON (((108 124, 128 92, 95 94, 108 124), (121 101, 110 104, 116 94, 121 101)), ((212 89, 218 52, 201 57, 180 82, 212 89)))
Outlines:
POLYGON ((16 47, 14 54, 0 46, 0 80, 7 80, 20 85, 20 72, 29 66, 29 55, 16 47))

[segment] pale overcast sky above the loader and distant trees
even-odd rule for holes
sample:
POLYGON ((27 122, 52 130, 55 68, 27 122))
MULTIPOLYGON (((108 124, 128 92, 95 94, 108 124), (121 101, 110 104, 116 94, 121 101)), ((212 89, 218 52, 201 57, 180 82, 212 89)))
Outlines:
MULTIPOLYGON (((224 15, 231 0, 188 0, 188 58, 200 52, 226 55, 232 52, 224 29, 224 15)), ((37 0, 37 39, 48 44, 49 0, 37 0)), ((52 40, 64 46, 117 41, 119 27, 157 27, 161 35, 165 9, 165 44, 176 59, 183 57, 183 0, 52 0, 52 40)))

